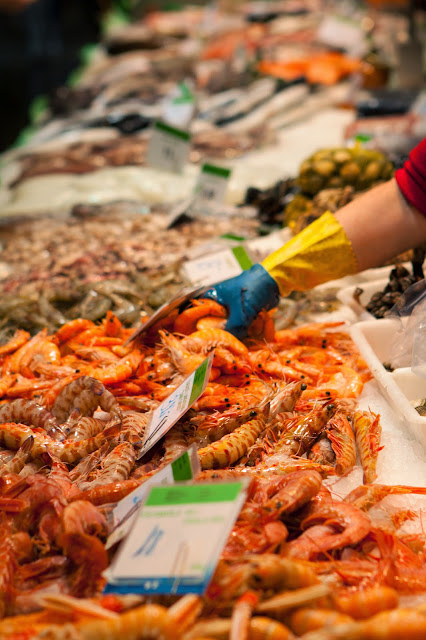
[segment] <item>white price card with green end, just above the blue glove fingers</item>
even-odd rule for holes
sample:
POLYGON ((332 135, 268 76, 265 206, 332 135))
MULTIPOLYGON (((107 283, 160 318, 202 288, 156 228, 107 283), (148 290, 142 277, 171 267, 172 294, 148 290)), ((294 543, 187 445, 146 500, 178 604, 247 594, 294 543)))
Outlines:
POLYGON ((193 285, 210 285, 238 276, 250 269, 253 261, 242 246, 188 260, 182 265, 183 276, 193 285))

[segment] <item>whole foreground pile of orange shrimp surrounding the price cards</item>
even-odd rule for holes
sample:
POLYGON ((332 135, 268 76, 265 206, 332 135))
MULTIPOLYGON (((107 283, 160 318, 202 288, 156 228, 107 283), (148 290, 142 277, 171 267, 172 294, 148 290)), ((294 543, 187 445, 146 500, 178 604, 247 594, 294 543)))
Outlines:
POLYGON ((137 343, 108 313, 0 345, 0 617, 15 616, 2 638, 21 640, 11 620, 40 607, 26 639, 376 638, 374 616, 425 629, 422 609, 405 612, 408 627, 405 610, 392 611, 400 593, 426 591, 425 541, 399 531, 417 514, 386 527, 368 514, 425 489, 371 484, 380 418, 356 409, 370 373, 351 339, 339 323, 275 331, 265 312, 242 342, 225 323, 223 307, 195 300, 137 343), (209 353, 204 393, 140 456, 153 410, 209 353), (96 600, 97 613, 84 610, 101 619, 76 622, 75 599, 99 597, 116 551, 105 550, 110 505, 192 443, 199 481, 250 479, 208 592, 121 615, 100 614, 96 600), (364 484, 337 499, 323 479, 348 473, 357 454, 364 484))

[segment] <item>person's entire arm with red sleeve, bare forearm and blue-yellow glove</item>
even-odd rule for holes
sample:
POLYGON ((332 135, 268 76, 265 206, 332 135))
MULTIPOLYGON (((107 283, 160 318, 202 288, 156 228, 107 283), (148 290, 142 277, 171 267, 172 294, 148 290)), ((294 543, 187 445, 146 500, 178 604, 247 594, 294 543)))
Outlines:
POLYGON ((246 335, 279 293, 304 291, 386 260, 426 240, 426 139, 394 179, 325 213, 283 247, 208 292, 229 310, 227 329, 246 335))

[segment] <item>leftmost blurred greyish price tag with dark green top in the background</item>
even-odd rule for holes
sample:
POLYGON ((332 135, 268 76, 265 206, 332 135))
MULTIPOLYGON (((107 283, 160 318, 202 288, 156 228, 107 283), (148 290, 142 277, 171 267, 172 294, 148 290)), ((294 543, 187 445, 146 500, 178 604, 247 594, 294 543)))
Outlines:
POLYGON ((182 173, 188 160, 190 142, 191 136, 187 131, 157 121, 149 141, 147 164, 164 171, 182 173))

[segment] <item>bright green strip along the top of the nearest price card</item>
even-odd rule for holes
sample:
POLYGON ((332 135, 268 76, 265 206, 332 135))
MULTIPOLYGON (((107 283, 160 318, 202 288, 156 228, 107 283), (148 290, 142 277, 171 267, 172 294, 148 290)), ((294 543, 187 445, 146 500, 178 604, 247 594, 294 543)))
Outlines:
POLYGON ((241 489, 241 482, 153 487, 145 505, 147 507, 162 507, 206 502, 232 502, 241 489))

